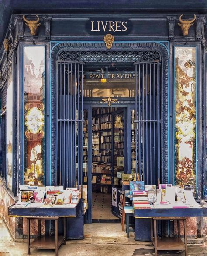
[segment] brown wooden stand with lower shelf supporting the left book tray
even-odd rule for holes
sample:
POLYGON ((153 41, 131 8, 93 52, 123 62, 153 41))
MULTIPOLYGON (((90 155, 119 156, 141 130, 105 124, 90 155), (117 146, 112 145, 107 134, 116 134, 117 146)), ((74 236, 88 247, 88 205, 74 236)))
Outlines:
POLYGON ((58 256, 58 249, 64 243, 66 245, 66 218, 63 219, 63 236, 58 234, 58 220, 59 217, 27 217, 28 224, 28 255, 30 255, 30 248, 37 249, 54 249, 55 256, 58 256), (38 237, 30 242, 30 220, 38 220, 38 237), (41 220, 55 220, 55 236, 41 235, 41 220))

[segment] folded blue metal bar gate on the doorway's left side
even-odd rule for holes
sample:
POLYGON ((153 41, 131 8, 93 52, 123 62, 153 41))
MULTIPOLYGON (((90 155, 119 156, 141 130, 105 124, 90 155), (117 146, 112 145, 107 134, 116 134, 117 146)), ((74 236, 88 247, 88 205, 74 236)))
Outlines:
POLYGON ((56 63, 57 183, 82 184, 83 63, 56 63))

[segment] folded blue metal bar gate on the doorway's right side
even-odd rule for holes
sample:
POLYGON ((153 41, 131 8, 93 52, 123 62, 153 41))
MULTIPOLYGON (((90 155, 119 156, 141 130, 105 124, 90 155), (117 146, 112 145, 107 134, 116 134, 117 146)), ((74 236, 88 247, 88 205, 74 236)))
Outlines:
POLYGON ((160 181, 160 63, 135 63, 136 174, 145 184, 160 181))

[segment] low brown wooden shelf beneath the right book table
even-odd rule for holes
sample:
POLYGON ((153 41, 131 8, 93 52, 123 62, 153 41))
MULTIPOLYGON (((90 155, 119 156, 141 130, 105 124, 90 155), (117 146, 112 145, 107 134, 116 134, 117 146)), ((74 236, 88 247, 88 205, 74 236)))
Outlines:
MULTIPOLYGON (((155 245, 155 238, 152 240, 155 245)), ((158 250, 185 250, 185 245, 180 238, 174 237, 163 237, 157 238, 157 249, 158 250)))

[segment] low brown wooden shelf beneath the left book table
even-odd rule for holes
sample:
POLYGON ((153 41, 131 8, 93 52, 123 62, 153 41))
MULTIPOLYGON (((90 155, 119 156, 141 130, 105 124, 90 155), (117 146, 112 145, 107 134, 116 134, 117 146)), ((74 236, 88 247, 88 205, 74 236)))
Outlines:
MULTIPOLYGON (((64 242, 64 236, 58 236, 58 248, 64 242)), ((55 236, 38 236, 31 242, 30 248, 55 249, 55 236)))

